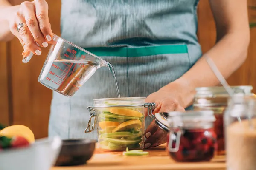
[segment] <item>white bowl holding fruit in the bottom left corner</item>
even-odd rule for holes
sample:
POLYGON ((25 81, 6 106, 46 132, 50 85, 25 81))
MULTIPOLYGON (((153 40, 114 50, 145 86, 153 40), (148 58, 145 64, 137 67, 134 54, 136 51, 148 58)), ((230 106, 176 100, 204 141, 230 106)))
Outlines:
POLYGON ((27 148, 0 151, 0 170, 49 170, 61 150, 59 137, 36 140, 27 148))

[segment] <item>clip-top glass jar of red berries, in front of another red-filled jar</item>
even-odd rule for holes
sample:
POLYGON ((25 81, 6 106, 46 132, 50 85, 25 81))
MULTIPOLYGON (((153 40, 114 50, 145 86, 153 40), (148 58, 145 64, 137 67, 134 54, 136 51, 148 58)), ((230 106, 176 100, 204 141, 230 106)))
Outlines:
POLYGON ((213 111, 171 112, 169 154, 175 161, 209 161, 217 150, 213 111))

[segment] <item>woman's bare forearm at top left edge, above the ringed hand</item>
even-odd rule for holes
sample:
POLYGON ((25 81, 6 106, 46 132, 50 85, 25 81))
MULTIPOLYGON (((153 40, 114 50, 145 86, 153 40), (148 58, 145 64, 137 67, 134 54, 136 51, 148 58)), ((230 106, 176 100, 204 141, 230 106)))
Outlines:
POLYGON ((6 0, 0 0, 0 41, 9 41, 14 37, 9 28, 9 20, 18 8, 19 6, 12 6, 6 0))

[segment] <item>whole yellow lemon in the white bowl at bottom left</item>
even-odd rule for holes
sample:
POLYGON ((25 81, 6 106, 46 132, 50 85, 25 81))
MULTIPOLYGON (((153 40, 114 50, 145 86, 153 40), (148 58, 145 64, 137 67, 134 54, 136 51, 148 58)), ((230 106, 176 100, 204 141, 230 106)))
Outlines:
POLYGON ((35 142, 35 136, 29 127, 23 125, 8 126, 0 131, 0 136, 6 136, 12 138, 14 136, 22 136, 29 141, 29 143, 35 142))

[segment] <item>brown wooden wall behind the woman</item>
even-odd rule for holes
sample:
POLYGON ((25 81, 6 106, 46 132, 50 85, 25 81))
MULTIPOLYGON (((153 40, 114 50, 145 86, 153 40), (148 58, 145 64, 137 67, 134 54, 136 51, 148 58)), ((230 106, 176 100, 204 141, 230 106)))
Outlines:
MULTIPOLYGON (((52 30, 60 35, 61 0, 47 0, 52 30)), ((248 0, 249 4, 253 0, 248 0)), ((12 0, 17 4, 17 0, 12 0)), ((251 12, 251 11, 250 11, 251 12)), ((215 44, 215 23, 208 0, 201 0, 198 7, 198 38, 203 52, 215 44)), ((253 85, 256 92, 256 30, 251 29, 251 43, 246 62, 229 79, 230 85, 253 85)), ((47 136, 52 91, 37 79, 49 47, 40 57, 34 56, 27 64, 22 63, 23 48, 15 39, 0 42, 0 122, 5 125, 26 125, 35 138, 47 136)))

